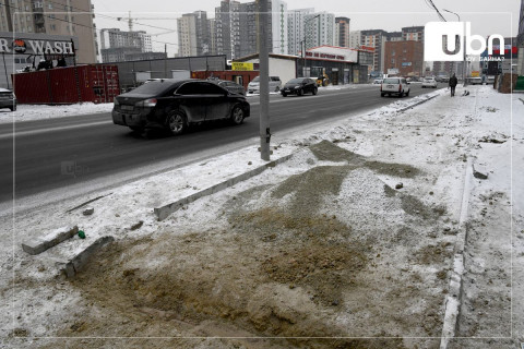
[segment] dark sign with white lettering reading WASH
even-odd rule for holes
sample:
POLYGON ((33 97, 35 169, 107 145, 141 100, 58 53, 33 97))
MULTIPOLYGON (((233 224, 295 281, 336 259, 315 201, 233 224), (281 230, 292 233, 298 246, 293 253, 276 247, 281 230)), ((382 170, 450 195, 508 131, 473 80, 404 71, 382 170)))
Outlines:
POLYGON ((74 56, 72 39, 0 37, 0 53, 74 56))

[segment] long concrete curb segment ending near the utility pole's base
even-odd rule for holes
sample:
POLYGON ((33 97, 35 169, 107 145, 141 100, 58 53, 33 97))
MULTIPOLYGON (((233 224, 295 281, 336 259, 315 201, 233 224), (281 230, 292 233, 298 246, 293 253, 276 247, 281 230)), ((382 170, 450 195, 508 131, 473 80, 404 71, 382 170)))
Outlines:
POLYGON ((221 182, 218 184, 215 184, 213 186, 210 186, 203 191, 200 191, 198 193, 194 193, 190 196, 186 196, 183 198, 180 198, 180 200, 177 200, 176 202, 172 202, 170 204, 167 204, 167 205, 164 205, 164 206, 160 206, 160 207, 156 207, 154 208, 154 212, 155 212, 155 215, 157 217, 158 220, 164 220, 166 219, 170 214, 172 214, 175 210, 179 209, 180 207, 182 207, 183 205, 188 205, 203 196, 206 196, 206 195, 211 195, 211 194, 214 194, 214 193, 217 193, 224 189, 227 189, 229 186, 233 186, 241 181, 245 181, 245 180, 248 180, 257 174, 260 174, 262 173, 265 169, 270 168, 270 167, 275 167, 277 164, 282 164, 286 160, 288 160, 290 157, 293 156, 293 154, 289 154, 289 155, 286 155, 286 156, 283 156, 276 160, 273 160, 273 161, 270 161, 267 164, 264 164, 255 169, 252 169, 246 173, 242 173, 242 174, 239 174, 237 177, 234 177, 234 178, 230 178, 224 182, 221 182))

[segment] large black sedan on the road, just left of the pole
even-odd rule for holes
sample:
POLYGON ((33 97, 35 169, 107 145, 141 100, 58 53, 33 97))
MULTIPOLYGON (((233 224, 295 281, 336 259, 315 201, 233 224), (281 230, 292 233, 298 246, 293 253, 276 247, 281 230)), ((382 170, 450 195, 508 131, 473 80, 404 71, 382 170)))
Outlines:
POLYGON ((246 97, 205 80, 162 80, 115 98, 112 122, 133 131, 165 128, 181 134, 192 123, 228 119, 242 123, 250 115, 246 97))

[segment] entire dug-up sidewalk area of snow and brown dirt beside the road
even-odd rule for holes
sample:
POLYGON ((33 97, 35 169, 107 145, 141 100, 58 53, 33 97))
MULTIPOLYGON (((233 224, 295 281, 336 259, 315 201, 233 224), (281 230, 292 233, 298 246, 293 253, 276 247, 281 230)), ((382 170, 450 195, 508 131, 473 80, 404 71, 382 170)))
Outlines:
MULTIPOLYGON (((524 104, 488 86, 468 89, 467 97, 445 94, 398 113, 401 101, 313 135, 276 140, 272 158, 290 159, 163 221, 154 207, 210 178, 263 165, 257 151, 102 193, 90 204, 92 216, 66 213, 81 203, 64 203, 17 217, 13 236, 1 237, 14 246, 14 260, 2 262, 11 273, 2 285, 14 274, 16 294, 14 312, 2 312, 21 336, 84 337, 38 339, 45 348, 438 347, 462 243, 454 336, 486 338, 448 347, 516 348, 524 341, 524 104), (468 177, 468 164, 488 179, 468 177), (20 241, 35 232, 68 225, 87 238, 36 257, 21 251, 20 241), (57 260, 104 234, 117 241, 84 273, 53 279, 57 260), (142 338, 85 338, 115 336, 142 338), (151 336, 184 338, 143 338, 151 336), (295 339, 246 338, 253 336, 295 339)), ((5 321, 1 327, 12 329, 5 321)))

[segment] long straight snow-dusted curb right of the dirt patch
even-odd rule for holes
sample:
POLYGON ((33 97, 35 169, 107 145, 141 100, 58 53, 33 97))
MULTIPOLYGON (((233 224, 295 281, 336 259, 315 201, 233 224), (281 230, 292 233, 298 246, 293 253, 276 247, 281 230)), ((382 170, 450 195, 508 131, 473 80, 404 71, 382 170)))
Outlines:
POLYGON ((461 303, 463 297, 464 274, 464 250, 467 239, 467 210, 469 206, 469 193, 473 178, 472 158, 467 159, 466 173, 464 174, 464 190, 462 192, 462 205, 460 217, 460 232, 456 237, 455 255, 453 260, 453 272, 450 277, 449 292, 444 303, 444 321, 442 324, 442 337, 440 340, 440 349, 446 349, 450 339, 455 337, 456 325, 461 312, 461 303))

